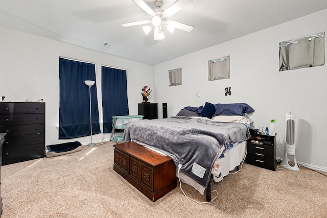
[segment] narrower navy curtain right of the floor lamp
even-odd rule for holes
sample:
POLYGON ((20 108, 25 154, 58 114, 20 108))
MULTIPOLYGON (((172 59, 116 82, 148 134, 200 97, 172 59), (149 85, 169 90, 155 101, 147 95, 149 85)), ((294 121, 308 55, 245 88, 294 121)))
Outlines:
POLYGON ((112 130, 112 116, 129 115, 126 70, 102 66, 103 133, 112 130))

